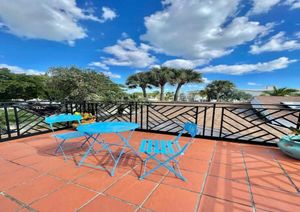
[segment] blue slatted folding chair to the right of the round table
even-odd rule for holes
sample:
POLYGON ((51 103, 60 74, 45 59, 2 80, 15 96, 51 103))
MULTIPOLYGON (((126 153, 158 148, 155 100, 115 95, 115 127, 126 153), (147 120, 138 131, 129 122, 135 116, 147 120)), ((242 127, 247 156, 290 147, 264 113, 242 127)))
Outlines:
POLYGON ((186 178, 182 176, 179 167, 179 161, 176 159, 178 156, 183 155, 184 151, 187 149, 189 144, 192 142, 194 137, 198 133, 198 127, 193 123, 185 123, 183 130, 178 134, 178 136, 173 141, 165 141, 165 140, 142 140, 139 151, 148 155, 148 157, 144 161, 144 173, 140 177, 140 179, 144 179, 149 174, 153 173, 160 167, 165 167, 169 171, 173 172, 178 178, 183 181, 186 181, 186 178), (181 147, 179 144, 179 139, 183 133, 189 133, 191 135, 190 140, 181 147), (156 156, 162 155, 162 160, 158 159, 156 156), (146 171, 147 162, 153 159, 158 164, 153 169, 146 171), (173 166, 170 163, 173 163, 173 166), (177 171, 176 171, 177 169, 177 171))

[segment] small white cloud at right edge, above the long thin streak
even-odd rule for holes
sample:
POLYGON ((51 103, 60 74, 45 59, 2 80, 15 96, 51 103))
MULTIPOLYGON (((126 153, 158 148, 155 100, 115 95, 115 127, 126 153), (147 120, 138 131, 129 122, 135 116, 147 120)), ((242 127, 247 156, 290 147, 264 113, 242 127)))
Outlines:
POLYGON ((287 39, 284 32, 279 32, 264 44, 251 45, 250 53, 260 54, 262 52, 292 51, 297 49, 300 49, 299 40, 287 39))

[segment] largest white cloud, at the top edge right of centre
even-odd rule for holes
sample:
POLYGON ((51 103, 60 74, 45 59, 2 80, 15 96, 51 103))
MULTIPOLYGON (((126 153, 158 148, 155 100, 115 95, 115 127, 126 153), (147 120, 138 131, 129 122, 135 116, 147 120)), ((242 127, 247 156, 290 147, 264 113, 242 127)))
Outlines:
POLYGON ((145 18, 141 36, 165 54, 212 59, 269 31, 270 25, 237 17, 239 0, 164 0, 164 9, 145 18))

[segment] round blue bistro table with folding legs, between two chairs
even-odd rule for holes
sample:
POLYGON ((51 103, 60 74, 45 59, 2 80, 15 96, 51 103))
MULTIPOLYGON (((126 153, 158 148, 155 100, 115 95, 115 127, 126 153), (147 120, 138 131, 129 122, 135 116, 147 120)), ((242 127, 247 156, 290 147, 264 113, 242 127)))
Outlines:
POLYGON ((112 169, 110 171, 110 175, 114 176, 116 167, 119 163, 119 160, 120 160, 122 154, 125 151, 125 148, 129 148, 136 156, 141 158, 139 153, 129 144, 129 140, 132 136, 132 133, 138 127, 139 127, 138 124, 132 123, 132 122, 96 122, 96 123, 92 123, 92 124, 80 125, 79 127, 77 127, 77 130, 79 132, 83 132, 83 133, 87 134, 87 136, 90 136, 90 139, 93 140, 93 142, 91 143, 88 150, 85 152, 84 156, 82 157, 82 159, 80 160, 78 165, 81 166, 90 153, 95 153, 94 146, 96 143, 98 143, 98 144, 100 144, 102 149, 106 150, 109 153, 112 160, 114 161, 114 166, 112 167, 112 169), (128 137, 125 137, 124 135, 122 135, 121 134, 122 132, 129 132, 128 137), (121 142, 118 142, 118 143, 106 142, 102 136, 103 134, 106 134, 106 133, 117 134, 119 136, 121 142), (122 150, 117 157, 113 155, 111 146, 121 146, 122 147, 122 150))

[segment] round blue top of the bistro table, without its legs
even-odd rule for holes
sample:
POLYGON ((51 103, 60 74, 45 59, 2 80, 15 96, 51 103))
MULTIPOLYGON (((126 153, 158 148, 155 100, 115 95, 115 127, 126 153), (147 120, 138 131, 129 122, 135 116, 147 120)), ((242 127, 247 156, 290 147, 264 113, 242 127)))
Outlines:
POLYGON ((133 122, 95 122, 80 125, 77 130, 88 134, 117 133, 135 130, 139 126, 139 124, 133 122))

